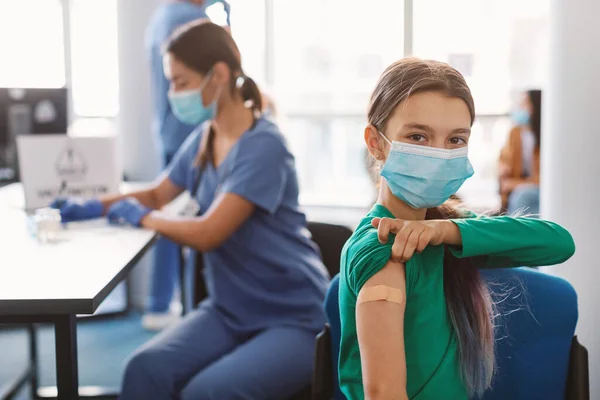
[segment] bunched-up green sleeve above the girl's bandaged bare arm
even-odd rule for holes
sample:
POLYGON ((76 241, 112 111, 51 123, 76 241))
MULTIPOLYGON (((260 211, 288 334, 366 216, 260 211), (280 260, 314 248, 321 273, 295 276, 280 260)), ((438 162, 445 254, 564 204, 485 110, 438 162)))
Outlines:
MULTIPOLYGON (((381 271, 392 255, 394 236, 390 235, 386 244, 381 244, 377 238, 377 230, 374 228, 363 228, 357 232, 346 248, 346 263, 348 266, 348 284, 355 296, 365 283, 377 272, 381 271)), ((410 264, 410 261, 409 261, 410 264)), ((414 268, 406 266, 406 290, 409 291, 411 282, 416 277, 411 275, 414 268)))

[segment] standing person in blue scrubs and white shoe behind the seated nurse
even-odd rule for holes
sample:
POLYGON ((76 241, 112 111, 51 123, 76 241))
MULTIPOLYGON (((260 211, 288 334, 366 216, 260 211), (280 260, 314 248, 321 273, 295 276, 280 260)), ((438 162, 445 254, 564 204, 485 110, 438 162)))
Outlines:
MULTIPOLYGON (((206 7, 216 2, 214 0, 170 0, 154 12, 146 31, 146 49, 150 60, 154 102, 152 130, 161 149, 163 169, 171 162, 195 126, 181 122, 173 114, 167 97, 169 82, 163 71, 162 47, 178 26, 199 18, 206 18, 206 7)), ((229 4, 223 1, 223 6, 229 23, 229 4)), ((160 330, 180 315, 177 308, 170 307, 178 283, 180 248, 169 239, 161 237, 156 243, 153 256, 151 287, 142 325, 149 330, 160 330)))

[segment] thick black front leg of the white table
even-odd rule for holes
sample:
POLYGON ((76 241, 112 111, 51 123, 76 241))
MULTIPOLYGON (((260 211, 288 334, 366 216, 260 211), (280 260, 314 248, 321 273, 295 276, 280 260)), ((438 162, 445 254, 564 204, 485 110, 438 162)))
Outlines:
POLYGON ((59 400, 79 398, 76 320, 75 315, 60 315, 54 322, 56 383, 59 400))

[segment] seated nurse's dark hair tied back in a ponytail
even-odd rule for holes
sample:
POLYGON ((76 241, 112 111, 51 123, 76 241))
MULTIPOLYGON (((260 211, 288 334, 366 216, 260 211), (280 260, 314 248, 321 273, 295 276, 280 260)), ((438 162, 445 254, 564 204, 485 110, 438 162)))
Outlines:
MULTIPOLYGON (((227 64, 231 71, 229 87, 232 94, 239 93, 255 116, 262 113, 263 99, 256 83, 242 69, 240 51, 223 27, 199 19, 178 28, 164 47, 164 52, 175 56, 179 61, 203 75, 206 75, 218 62, 227 64)), ((198 153, 196 164, 205 166, 213 161, 213 141, 215 132, 210 128, 206 140, 198 153)))

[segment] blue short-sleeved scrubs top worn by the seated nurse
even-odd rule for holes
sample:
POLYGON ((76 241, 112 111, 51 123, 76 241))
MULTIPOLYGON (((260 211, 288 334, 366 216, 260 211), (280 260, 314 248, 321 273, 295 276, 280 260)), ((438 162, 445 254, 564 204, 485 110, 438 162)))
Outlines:
MULTIPOLYGON (((167 170, 190 192, 203 129, 190 135, 167 170)), ((196 196, 201 213, 220 193, 242 196, 256 209, 225 243, 204 253, 209 301, 236 329, 321 330, 329 276, 298 204, 294 157, 273 122, 258 119, 219 167, 204 168, 196 196)))

